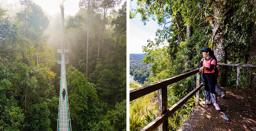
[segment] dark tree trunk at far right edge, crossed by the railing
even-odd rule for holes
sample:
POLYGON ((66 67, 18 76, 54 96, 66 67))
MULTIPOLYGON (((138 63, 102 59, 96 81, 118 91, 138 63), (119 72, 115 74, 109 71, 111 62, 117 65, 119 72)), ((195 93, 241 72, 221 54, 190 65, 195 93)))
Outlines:
MULTIPOLYGON (((251 43, 251 51, 250 51, 250 55, 249 55, 249 61, 250 61, 250 64, 255 64, 254 63, 254 59, 256 57, 256 24, 254 24, 254 27, 253 27, 253 35, 252 35, 252 43, 251 43)), ((256 69, 252 69, 252 77, 251 77, 251 89, 254 89, 256 90, 256 69), (254 73, 254 74, 252 74, 254 73)))

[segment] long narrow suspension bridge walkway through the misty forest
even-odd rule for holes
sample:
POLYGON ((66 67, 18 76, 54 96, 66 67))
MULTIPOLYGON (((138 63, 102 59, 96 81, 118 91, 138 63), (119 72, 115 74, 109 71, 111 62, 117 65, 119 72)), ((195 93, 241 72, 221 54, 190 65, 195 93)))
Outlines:
POLYGON ((60 93, 59 93, 59 111, 58 111, 58 131, 71 131, 69 103, 68 103, 68 90, 66 82, 66 62, 65 52, 61 55, 61 80, 60 80, 60 93), (62 90, 66 90, 65 100, 63 101, 62 90))

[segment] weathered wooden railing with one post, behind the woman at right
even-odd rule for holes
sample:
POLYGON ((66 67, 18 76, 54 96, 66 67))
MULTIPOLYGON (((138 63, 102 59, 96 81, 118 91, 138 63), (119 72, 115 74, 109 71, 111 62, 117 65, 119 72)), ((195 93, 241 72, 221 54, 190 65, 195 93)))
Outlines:
POLYGON ((240 66, 243 66, 243 67, 256 67, 256 65, 253 65, 253 64, 239 64, 239 63, 217 63, 217 65, 221 65, 221 66, 237 66, 236 89, 239 88, 240 66))

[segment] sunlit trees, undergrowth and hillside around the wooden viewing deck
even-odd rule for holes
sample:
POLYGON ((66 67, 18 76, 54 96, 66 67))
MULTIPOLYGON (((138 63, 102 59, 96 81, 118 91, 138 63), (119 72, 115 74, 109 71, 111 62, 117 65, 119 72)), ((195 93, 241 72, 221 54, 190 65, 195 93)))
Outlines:
MULTIPOLYGON (((156 39, 149 39, 148 44, 142 47, 146 54, 144 58, 130 54, 130 74, 137 82, 146 83, 142 86, 198 69, 203 58, 200 50, 209 47, 214 51, 219 63, 254 65, 254 68, 240 67, 239 88, 255 92, 256 3, 254 0, 131 0, 131 2, 136 3, 137 7, 130 5, 130 19, 141 16, 141 21, 138 22, 146 25, 149 20, 154 20, 159 26, 156 30, 156 39), (137 64, 134 64, 135 58, 139 59, 136 61, 137 64)), ((238 67, 218 65, 217 68, 218 84, 221 87, 229 89, 237 87, 238 67)), ((168 108, 195 87, 196 75, 168 86, 168 108)), ((130 88, 138 87, 131 85, 130 88)), ((202 92, 203 89, 200 92, 200 99, 204 98, 202 92)), ((139 131, 158 117, 159 107, 156 99, 157 91, 154 91, 130 101, 130 131, 139 131)), ((190 116, 195 101, 195 96, 191 97, 168 118, 169 130, 180 128, 190 116)))

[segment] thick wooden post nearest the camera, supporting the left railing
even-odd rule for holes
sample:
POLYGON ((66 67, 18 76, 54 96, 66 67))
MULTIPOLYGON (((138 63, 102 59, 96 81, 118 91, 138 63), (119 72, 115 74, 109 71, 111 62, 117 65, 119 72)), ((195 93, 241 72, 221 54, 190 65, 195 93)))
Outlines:
MULTIPOLYGON (((167 102, 167 86, 164 88, 157 90, 157 106, 158 106, 158 116, 162 116, 168 109, 167 102)), ((159 131, 167 131, 168 130, 168 119, 165 120, 160 126, 158 126, 159 131)))

